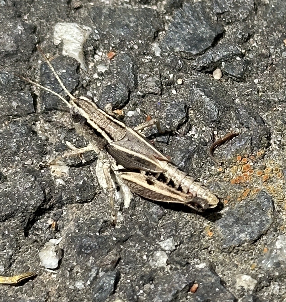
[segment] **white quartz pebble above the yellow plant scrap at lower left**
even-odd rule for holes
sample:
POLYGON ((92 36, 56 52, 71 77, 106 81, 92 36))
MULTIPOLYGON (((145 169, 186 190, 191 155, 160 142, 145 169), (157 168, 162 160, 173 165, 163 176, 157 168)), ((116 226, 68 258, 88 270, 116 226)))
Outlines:
POLYGON ((50 239, 39 252, 41 265, 45 268, 57 268, 62 258, 62 250, 58 246, 60 239, 50 239))

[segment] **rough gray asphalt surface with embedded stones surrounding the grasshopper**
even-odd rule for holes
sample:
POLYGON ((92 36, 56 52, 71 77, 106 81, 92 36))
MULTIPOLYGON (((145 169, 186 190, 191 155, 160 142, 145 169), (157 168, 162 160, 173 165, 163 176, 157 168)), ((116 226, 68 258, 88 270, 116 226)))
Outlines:
POLYGON ((0 301, 285 301, 285 15, 284 0, 0 1, 0 275, 37 273, 0 285, 0 301), (53 44, 58 22, 91 28, 86 69, 53 44), (219 207, 133 196, 111 226, 96 154, 47 166, 67 141, 87 142, 62 101, 18 78, 64 95, 37 43, 73 94, 123 109, 130 127, 158 118, 164 133, 146 136, 219 207), (219 166, 209 147, 232 131, 213 150, 219 166), (52 273, 38 253, 59 238, 52 273))

